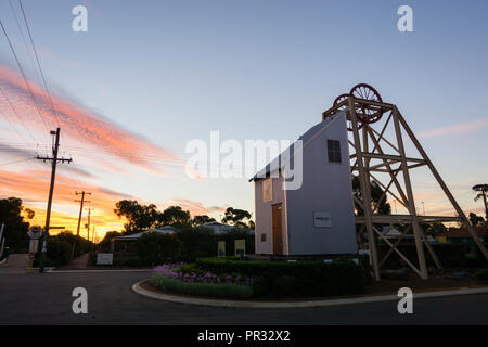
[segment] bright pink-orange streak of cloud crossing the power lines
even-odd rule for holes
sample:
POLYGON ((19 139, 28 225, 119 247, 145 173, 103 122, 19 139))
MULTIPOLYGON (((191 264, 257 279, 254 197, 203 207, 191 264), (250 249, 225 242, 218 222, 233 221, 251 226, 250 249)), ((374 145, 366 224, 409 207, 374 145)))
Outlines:
MULTIPOLYGON (((39 116, 36 104, 22 77, 2 65, 0 65, 0 85, 11 103, 13 103, 14 108, 17 110, 18 114, 22 114, 23 121, 29 124, 29 128, 34 128, 37 132, 46 132, 43 123, 51 127, 60 125, 63 129, 63 134, 67 136, 69 140, 75 140, 81 144, 82 150, 89 150, 85 149, 85 146, 102 150, 105 155, 111 155, 137 167, 158 172, 162 165, 180 166, 182 163, 176 155, 152 143, 143 136, 126 130, 106 117, 98 115, 69 100, 52 95, 56 111, 54 113, 43 89, 29 81, 30 89, 40 110, 41 116, 39 116), (153 160, 143 158, 147 155, 153 160)), ((0 100, 0 111, 8 114, 10 119, 16 120, 7 101, 0 100)))

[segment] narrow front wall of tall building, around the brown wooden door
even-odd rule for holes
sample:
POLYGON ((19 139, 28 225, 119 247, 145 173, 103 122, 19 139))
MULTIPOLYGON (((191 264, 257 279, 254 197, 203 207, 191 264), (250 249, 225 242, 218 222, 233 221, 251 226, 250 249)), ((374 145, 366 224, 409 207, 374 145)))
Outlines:
POLYGON ((270 202, 262 201, 262 183, 265 180, 257 180, 254 183, 255 193, 255 252, 256 254, 273 254, 273 231, 272 231, 272 210, 274 204, 282 204, 282 239, 283 254, 286 254, 286 219, 285 219, 285 201, 282 190, 283 179, 273 178, 272 180, 272 200, 270 202), (261 241, 261 235, 266 235, 266 241, 261 241))

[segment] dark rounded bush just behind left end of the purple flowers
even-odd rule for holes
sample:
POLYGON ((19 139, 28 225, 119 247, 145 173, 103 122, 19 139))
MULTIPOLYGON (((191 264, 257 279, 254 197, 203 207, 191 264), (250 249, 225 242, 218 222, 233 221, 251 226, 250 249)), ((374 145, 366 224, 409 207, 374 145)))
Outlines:
POLYGON ((136 241, 136 250, 142 264, 155 266, 178 259, 181 242, 175 235, 147 233, 136 241))

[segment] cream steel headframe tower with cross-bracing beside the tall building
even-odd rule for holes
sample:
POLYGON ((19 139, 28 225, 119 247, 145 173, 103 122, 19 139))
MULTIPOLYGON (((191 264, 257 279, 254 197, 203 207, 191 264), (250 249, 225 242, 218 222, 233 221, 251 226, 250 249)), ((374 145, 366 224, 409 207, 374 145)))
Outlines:
MULTIPOLYGON (((394 104, 385 102, 376 102, 364 99, 357 99, 354 95, 342 100, 339 103, 329 108, 322 114, 322 118, 325 119, 331 117, 341 110, 345 110, 346 106, 346 117, 351 125, 351 136, 352 140, 349 141, 349 145, 352 149, 350 153, 350 168, 351 175, 358 172, 360 181, 360 191, 362 201, 354 196, 357 205, 359 205, 364 215, 356 217, 356 224, 359 227, 358 232, 358 245, 360 248, 369 249, 370 264, 373 269, 373 275, 376 281, 380 281, 380 268, 385 264, 386 259, 390 256, 393 252, 397 253, 398 256, 403 259, 422 279, 428 279, 428 271, 425 261, 425 246, 431 254, 436 267, 441 269, 442 266, 435 254, 432 245, 429 244, 424 230, 421 228, 421 223, 428 222, 462 222, 468 230, 471 236, 476 242, 477 246, 488 259, 488 252, 476 233, 473 226, 470 223, 466 215, 463 213, 458 202, 454 200, 453 195, 449 191, 448 187, 444 182, 439 172, 435 168, 434 164, 428 158, 424 149, 420 144, 419 140, 414 136, 413 131, 408 126, 403 116, 398 111, 397 106, 394 104), (381 131, 375 130, 372 126, 373 124, 365 124, 361 121, 360 117, 357 115, 358 110, 369 108, 370 113, 377 111, 383 113, 383 117, 386 116, 386 121, 382 125, 381 131), (385 138, 385 131, 388 126, 393 129, 395 139, 387 140, 385 138), (413 145, 416 147, 420 158, 407 157, 402 132, 406 132, 408 138, 412 141, 413 145), (370 147, 372 144, 372 149, 370 147), (388 150, 388 153, 386 150, 388 150), (390 153, 393 152, 393 153, 390 153), (373 165, 376 160, 377 164, 373 165), (398 165, 399 164, 399 165, 398 165), (395 168, 395 165, 398 165, 395 168), (412 184, 410 181, 410 170, 426 166, 433 174, 435 180, 440 185, 441 190, 450 201, 452 207, 454 208, 458 217, 446 217, 446 216, 419 216, 416 214, 412 184), (388 177, 389 182, 384 183, 374 175, 376 172, 383 172, 388 177), (373 175, 374 174, 374 175, 373 175), (398 176, 401 174, 403 184, 400 183, 398 176), (381 201, 387 198, 389 194, 393 198, 397 200, 408 211, 407 215, 381 215, 377 214, 377 207, 380 204, 374 205, 371 200, 371 182, 374 181, 376 184, 382 187, 384 190, 381 201), (395 187, 397 194, 391 191, 391 185, 395 187), (365 203, 369 202, 369 203, 365 203), (391 243, 377 228, 375 224, 382 223, 400 223, 407 224, 406 229, 401 233, 395 243, 391 243), (364 244, 362 240, 362 234, 367 230, 368 243, 364 244), (398 245, 402 237, 413 229, 413 236, 415 240, 415 248, 419 260, 419 267, 416 267, 412 261, 410 261, 399 249, 398 245), (378 261, 378 254, 376 248, 376 235, 378 239, 383 240, 390 249, 386 253, 382 260, 378 261)), ((376 124, 377 125, 377 124, 376 124)))

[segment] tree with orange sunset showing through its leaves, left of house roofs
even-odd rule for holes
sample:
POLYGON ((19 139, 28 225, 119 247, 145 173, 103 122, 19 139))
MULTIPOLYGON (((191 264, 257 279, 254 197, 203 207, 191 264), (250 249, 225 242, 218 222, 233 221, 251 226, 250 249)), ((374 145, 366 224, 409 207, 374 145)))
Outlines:
POLYGON ((126 233, 146 230, 162 219, 156 205, 140 205, 137 201, 121 200, 115 204, 114 213, 120 218, 125 217, 124 224, 126 233))

